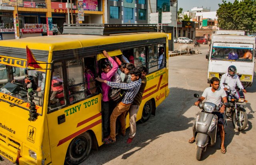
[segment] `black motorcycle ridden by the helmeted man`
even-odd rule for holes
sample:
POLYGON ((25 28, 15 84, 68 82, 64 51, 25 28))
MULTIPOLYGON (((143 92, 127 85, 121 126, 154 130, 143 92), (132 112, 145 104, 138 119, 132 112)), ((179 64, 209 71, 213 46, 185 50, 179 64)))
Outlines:
MULTIPOLYGON (((227 83, 223 84, 228 86, 227 83)), ((246 114, 246 110, 244 109, 244 105, 246 104, 247 100, 245 100, 243 91, 239 90, 232 94, 230 86, 228 87, 228 102, 230 103, 230 108, 227 109, 226 115, 232 118, 234 128, 236 128, 238 131, 242 131, 248 124, 248 116, 246 114)))

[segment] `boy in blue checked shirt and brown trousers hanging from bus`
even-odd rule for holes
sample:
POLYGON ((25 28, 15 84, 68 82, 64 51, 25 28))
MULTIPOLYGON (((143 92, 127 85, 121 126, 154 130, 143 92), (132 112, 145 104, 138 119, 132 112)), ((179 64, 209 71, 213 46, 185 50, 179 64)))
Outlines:
POLYGON ((130 74, 132 83, 129 84, 114 83, 100 79, 99 77, 96 78, 96 80, 102 84, 127 90, 124 98, 117 104, 116 108, 114 108, 110 116, 110 136, 104 140, 104 143, 106 144, 114 143, 116 141, 116 119, 118 116, 120 116, 122 135, 125 135, 125 115, 126 112, 130 109, 134 97, 138 93, 141 85, 141 71, 137 68, 134 68, 130 71, 130 74))

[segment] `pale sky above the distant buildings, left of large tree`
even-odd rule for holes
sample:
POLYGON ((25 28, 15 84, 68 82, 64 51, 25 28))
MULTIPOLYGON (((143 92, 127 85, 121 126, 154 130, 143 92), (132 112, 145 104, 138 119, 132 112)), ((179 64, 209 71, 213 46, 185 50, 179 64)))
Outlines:
MULTIPOLYGON (((226 2, 234 3, 234 0, 226 0, 226 2)), ((193 7, 210 8, 211 12, 218 10, 218 4, 222 4, 222 0, 178 0, 178 10, 183 8, 183 12, 190 11, 193 7)))

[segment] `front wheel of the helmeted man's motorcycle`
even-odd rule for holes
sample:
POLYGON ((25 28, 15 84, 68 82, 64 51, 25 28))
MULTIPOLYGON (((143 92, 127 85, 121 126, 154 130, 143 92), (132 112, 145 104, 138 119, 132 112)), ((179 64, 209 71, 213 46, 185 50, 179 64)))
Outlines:
POLYGON ((248 116, 247 116, 246 112, 239 110, 239 109, 237 111, 237 116, 238 116, 238 118, 241 117, 243 121, 239 122, 238 120, 236 120, 236 113, 234 113, 232 116, 232 123, 233 123, 234 128, 236 128, 236 130, 242 131, 246 128, 246 126, 248 124, 248 116))

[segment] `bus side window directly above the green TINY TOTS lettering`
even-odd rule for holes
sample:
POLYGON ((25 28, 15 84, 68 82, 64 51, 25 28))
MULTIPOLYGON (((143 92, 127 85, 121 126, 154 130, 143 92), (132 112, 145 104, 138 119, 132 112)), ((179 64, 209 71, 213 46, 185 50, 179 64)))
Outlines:
POLYGON ((66 61, 70 103, 85 99, 82 59, 66 61))

